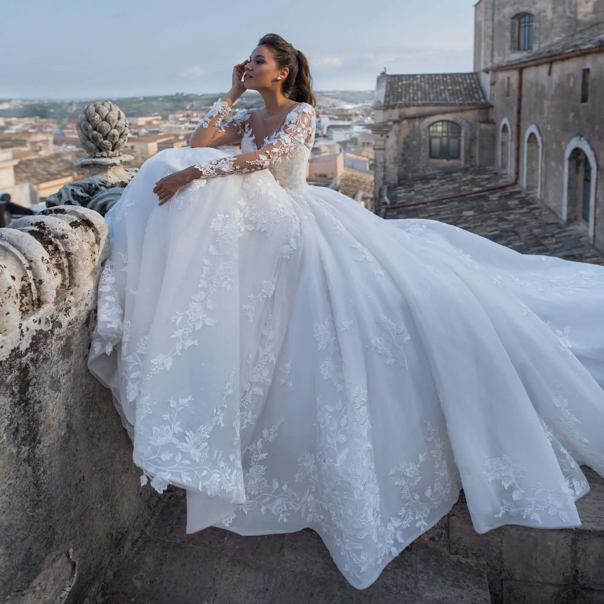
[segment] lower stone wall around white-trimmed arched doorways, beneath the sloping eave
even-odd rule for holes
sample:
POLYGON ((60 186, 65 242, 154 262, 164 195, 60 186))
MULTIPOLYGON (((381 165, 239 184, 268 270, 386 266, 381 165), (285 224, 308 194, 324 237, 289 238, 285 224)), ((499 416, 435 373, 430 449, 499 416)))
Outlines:
MULTIPOLYGON (((512 165, 516 153, 516 106, 518 101, 518 70, 495 71, 495 108, 493 117, 501 145, 501 126, 509 120, 512 126, 512 165), (507 79, 510 78, 510 96, 507 97, 507 79)), ((596 208, 604 206, 602 162, 604 161, 604 130, 600 122, 598 104, 604 98, 604 53, 575 57, 565 61, 534 66, 522 73, 522 112, 520 129, 519 182, 525 178, 538 179, 540 198, 558 216, 564 219, 568 204, 573 201, 569 193, 568 170, 574 165, 568 162, 568 153, 574 148, 588 149, 591 157, 592 179, 596 181, 596 208), (583 69, 590 69, 590 95, 588 103, 581 103, 583 69), (530 175, 533 164, 527 157, 527 137, 534 132, 541 142, 539 173, 530 175)), ((588 228, 593 230, 594 244, 604 249, 604 220, 596 211, 588 228)))

